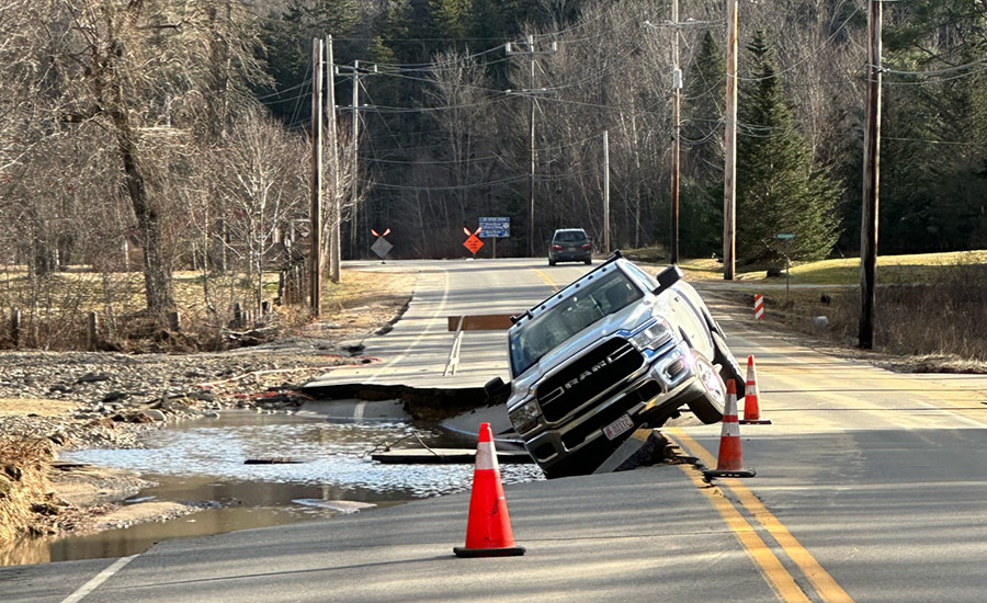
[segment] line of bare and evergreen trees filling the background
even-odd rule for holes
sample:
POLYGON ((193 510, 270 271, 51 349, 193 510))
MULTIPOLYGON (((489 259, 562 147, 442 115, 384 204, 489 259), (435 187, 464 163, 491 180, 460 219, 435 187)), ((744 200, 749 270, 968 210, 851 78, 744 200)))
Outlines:
MULTIPOLYGON (((681 250, 708 257, 725 14, 680 4, 681 250)), ((856 253, 865 9, 740 7, 741 263, 775 261, 780 232, 796 258, 856 253)), ((881 250, 984 247, 987 9, 885 14, 881 250)), ((524 253, 532 109, 534 248, 568 226, 602 244, 604 130, 614 247, 667 244, 669 16, 668 0, 0 0, 0 255, 31 278, 139 266, 154 311, 174 305, 180 269, 220 311, 209 275, 235 270, 260 304, 262 272, 297 264, 307 236, 311 38, 326 34, 341 133, 326 198, 342 202, 345 255, 392 228, 397 255, 461 257, 480 216, 510 217, 498 252, 524 253)))

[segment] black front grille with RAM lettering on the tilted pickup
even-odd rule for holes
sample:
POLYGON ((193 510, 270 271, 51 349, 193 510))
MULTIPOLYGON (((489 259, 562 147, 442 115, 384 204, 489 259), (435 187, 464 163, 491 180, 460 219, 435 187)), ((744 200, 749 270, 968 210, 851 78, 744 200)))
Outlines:
POLYGON ((547 421, 558 421, 637 371, 644 356, 626 339, 613 338, 545 379, 535 390, 547 421))

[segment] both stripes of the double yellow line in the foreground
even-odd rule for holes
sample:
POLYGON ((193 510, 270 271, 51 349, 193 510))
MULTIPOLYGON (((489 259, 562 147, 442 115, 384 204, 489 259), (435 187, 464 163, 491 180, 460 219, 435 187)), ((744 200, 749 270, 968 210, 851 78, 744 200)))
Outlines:
MULTIPOLYGON (((708 467, 716 466, 716 458, 699 442, 690 437, 678 428, 662 430, 672 442, 688 454, 699 458, 708 467)), ((785 569, 778 556, 758 535, 757 531, 744 517, 740 511, 726 497, 722 496, 715 487, 708 487, 703 481, 702 474, 691 465, 680 466, 685 475, 710 499, 711 504, 719 512, 721 516, 737 535, 737 538, 747 549, 764 577, 778 592, 779 598, 786 603, 808 603, 812 601, 805 591, 795 582, 795 579, 785 569)), ((785 555, 795 564, 802 573, 808 579, 816 593, 824 603, 853 603, 853 599, 847 594, 836 580, 825 570, 812 554, 792 535, 791 532, 769 511, 739 479, 721 479, 717 485, 729 490, 736 496, 740 504, 758 521, 758 523, 771 535, 782 548, 785 555)))

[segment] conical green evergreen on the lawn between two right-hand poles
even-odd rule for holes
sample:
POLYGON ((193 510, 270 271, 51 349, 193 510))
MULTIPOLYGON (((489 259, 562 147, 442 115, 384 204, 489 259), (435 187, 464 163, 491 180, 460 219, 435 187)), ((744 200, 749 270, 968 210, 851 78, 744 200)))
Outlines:
POLYGON ((836 181, 813 166, 763 32, 747 47, 752 77, 741 89, 737 143, 737 257, 742 263, 826 257, 837 239, 836 181), (795 235, 790 243, 780 234, 795 235))

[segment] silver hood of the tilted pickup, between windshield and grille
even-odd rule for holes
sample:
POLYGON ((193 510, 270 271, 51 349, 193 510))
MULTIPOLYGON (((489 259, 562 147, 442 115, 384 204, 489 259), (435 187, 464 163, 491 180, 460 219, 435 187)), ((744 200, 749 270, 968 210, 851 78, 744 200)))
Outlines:
POLYGON ((572 359, 582 350, 592 348, 597 341, 606 339, 617 331, 627 331, 627 334, 629 334, 637 327, 649 321, 656 314, 654 299, 646 297, 639 304, 632 304, 616 314, 609 315, 593 322, 566 340, 558 348, 542 356, 523 375, 514 379, 512 398, 518 395, 526 395, 529 388, 541 379, 543 375, 563 362, 572 359))

